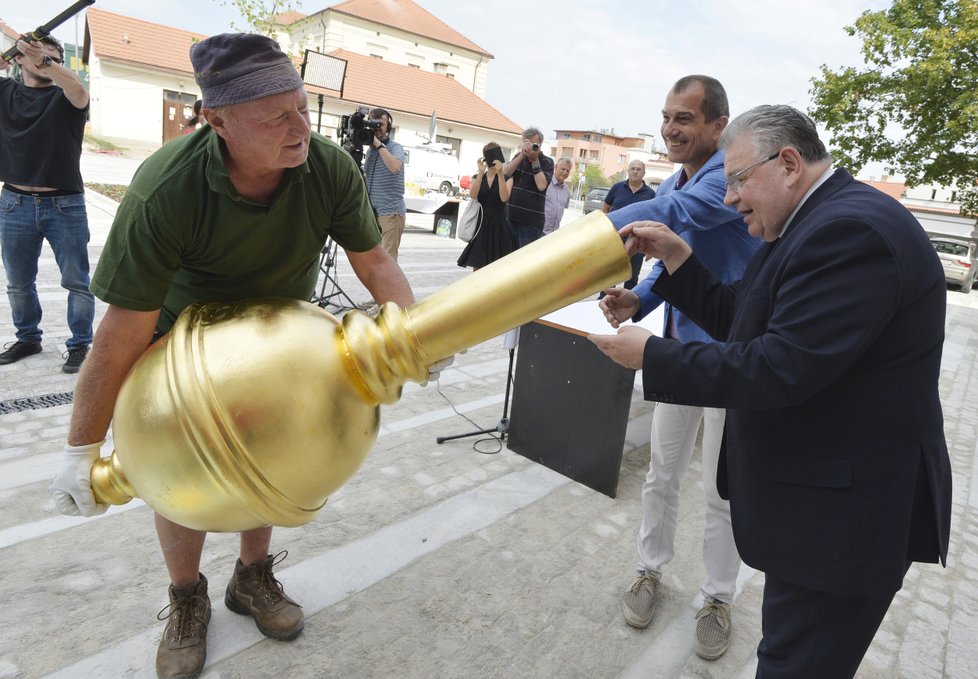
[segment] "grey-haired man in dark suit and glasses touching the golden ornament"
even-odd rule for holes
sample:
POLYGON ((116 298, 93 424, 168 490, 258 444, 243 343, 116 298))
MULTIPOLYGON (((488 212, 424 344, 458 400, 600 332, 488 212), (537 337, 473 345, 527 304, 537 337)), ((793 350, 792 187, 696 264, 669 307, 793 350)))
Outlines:
POLYGON ((656 293, 724 344, 592 336, 649 400, 727 408, 718 484, 765 574, 757 676, 851 677, 912 561, 945 562, 938 377, 946 288, 913 216, 832 169, 814 124, 760 106, 724 131, 725 201, 766 241, 721 284, 666 225, 623 230, 656 293))

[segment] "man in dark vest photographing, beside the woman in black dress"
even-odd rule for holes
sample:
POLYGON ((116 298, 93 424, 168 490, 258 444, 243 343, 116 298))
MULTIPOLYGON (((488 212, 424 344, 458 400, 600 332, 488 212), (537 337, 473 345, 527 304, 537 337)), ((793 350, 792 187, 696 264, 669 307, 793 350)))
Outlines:
POLYGON ((535 127, 523 130, 523 146, 506 164, 506 179, 513 180, 509 197, 509 227, 516 247, 543 235, 547 187, 554 176, 554 161, 543 155, 543 134, 535 127))

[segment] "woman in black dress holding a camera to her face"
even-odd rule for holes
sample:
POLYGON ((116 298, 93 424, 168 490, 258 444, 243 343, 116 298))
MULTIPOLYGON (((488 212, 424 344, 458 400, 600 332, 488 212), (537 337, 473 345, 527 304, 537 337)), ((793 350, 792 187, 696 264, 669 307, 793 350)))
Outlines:
POLYGON ((472 179, 472 186, 469 187, 471 200, 478 200, 482 205, 482 226, 479 227, 475 238, 470 240, 462 250, 458 258, 459 266, 479 269, 516 249, 509 229, 509 220, 506 219, 506 201, 509 200, 513 180, 507 181, 503 176, 501 160, 486 165, 485 155, 493 148, 499 148, 499 144, 491 141, 483 147, 483 157, 477 161, 479 172, 472 179))

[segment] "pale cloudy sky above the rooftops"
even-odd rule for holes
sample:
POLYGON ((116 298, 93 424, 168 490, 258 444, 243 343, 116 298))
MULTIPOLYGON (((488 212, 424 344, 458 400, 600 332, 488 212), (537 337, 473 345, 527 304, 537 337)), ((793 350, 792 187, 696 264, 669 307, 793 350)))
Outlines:
MULTIPOLYGON (((888 0, 416 0, 494 57, 487 101, 521 127, 655 134, 669 87, 691 73, 723 83, 736 115, 758 104, 809 107, 811 79, 861 67, 850 26, 888 0)), ((0 19, 32 30, 71 0, 5 2, 0 19)), ((311 14, 330 0, 303 0, 311 14)), ((244 26, 216 0, 97 0, 110 12, 198 33, 244 26)), ((78 23, 79 39, 83 24, 78 23)), ((75 21, 55 36, 75 42, 75 21)), ((394 86, 392 84, 392 86, 394 86)), ((383 105, 383 102, 371 102, 383 105)), ((828 141, 826 139, 826 141, 828 141)), ((872 170, 873 168, 867 168, 872 170)), ((879 170, 877 170, 877 173, 879 170)), ((866 171, 862 173, 866 174, 866 171)))

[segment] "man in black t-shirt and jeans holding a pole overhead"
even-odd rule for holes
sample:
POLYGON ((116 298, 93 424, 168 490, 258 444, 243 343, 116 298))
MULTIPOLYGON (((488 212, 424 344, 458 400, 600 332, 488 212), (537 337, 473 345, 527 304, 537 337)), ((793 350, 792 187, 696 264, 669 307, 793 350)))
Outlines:
MULTIPOLYGON (((67 360, 76 373, 92 343, 95 298, 88 291, 88 214, 79 161, 88 91, 65 68, 54 38, 17 41, 24 82, 0 80, 0 248, 7 298, 17 341, 0 353, 0 365, 41 351, 37 262, 51 245, 68 291, 67 360)), ((7 62, 0 60, 3 70, 7 62)))

